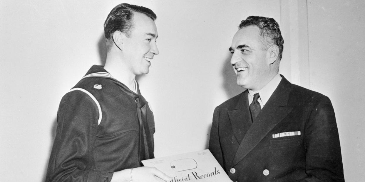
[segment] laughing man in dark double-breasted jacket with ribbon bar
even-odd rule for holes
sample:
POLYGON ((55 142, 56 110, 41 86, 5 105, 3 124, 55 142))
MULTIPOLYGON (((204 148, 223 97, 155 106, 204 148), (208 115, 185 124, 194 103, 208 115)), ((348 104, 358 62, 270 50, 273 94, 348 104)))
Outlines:
POLYGON ((209 149, 233 181, 344 181, 330 99, 278 74, 272 18, 241 21, 229 50, 241 94, 215 108, 209 149))

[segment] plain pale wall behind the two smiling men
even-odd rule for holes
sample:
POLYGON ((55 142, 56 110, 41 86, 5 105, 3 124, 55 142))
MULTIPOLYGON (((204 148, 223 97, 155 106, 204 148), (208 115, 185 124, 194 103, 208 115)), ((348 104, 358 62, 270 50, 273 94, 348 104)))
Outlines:
POLYGON ((160 55, 140 76, 155 156, 207 149, 213 110, 243 91, 228 48, 241 20, 273 17, 280 73, 334 106, 346 181, 365 178, 362 0, 0 0, 0 182, 44 181, 61 97, 104 64, 103 23, 119 3, 157 14, 160 55))

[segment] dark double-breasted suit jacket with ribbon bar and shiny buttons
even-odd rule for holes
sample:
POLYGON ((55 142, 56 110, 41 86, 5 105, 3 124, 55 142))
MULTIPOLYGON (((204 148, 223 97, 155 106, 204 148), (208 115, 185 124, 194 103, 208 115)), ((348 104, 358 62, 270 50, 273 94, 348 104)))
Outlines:
POLYGON ((233 181, 344 181, 328 97, 280 84, 251 122, 248 91, 215 108, 209 149, 233 181))

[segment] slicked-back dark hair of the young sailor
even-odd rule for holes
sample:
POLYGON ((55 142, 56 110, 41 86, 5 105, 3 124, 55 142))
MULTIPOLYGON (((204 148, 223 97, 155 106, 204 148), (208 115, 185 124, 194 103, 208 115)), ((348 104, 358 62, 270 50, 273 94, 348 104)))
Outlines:
POLYGON ((118 4, 116 7, 110 11, 107 19, 104 22, 104 35, 107 43, 107 50, 114 43, 113 33, 115 31, 120 31, 124 33, 127 37, 131 35, 133 29, 133 13, 143 13, 150 17, 153 21, 156 20, 156 14, 149 8, 122 3, 118 4))

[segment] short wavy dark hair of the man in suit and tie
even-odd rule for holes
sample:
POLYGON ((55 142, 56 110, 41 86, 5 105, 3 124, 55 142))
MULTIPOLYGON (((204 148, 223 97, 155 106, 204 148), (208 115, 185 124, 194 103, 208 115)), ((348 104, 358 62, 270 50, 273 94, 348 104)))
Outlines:
POLYGON ((239 29, 250 25, 256 25, 260 28, 260 36, 262 37, 261 41, 265 50, 274 44, 279 47, 278 58, 281 60, 284 50, 284 39, 281 36, 279 24, 273 18, 249 16, 246 20, 241 21, 239 29))

